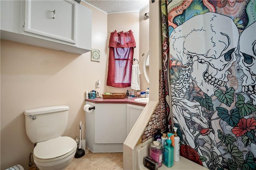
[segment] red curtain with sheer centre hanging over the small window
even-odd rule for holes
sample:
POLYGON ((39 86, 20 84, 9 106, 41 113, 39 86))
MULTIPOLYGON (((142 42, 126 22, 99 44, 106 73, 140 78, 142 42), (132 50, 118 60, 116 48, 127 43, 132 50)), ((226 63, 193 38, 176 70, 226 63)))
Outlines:
POLYGON ((110 34, 107 85, 130 87, 132 59, 136 43, 132 30, 110 34))

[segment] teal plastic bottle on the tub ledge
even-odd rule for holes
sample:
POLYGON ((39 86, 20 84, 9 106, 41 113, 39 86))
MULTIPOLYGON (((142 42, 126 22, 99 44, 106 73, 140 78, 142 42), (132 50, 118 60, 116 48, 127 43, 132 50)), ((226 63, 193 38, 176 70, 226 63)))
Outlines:
POLYGON ((172 140, 167 139, 164 146, 164 161, 163 163, 168 167, 172 167, 174 164, 174 147, 172 146, 172 140))

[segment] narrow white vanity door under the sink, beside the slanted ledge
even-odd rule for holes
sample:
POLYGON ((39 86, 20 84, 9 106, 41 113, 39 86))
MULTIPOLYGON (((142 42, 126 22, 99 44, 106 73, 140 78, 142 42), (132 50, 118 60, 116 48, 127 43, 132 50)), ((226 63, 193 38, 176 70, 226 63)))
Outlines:
POLYGON ((138 120, 140 114, 142 113, 144 107, 136 105, 127 105, 127 136, 132 130, 132 127, 138 120))

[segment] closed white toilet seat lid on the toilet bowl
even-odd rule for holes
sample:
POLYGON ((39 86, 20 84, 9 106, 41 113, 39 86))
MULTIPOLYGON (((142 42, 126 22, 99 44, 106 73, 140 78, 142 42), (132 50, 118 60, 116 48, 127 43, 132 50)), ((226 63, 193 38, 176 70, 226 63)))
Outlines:
POLYGON ((41 162, 56 161, 76 151, 77 143, 68 136, 59 136, 44 142, 38 142, 34 148, 34 158, 41 162))

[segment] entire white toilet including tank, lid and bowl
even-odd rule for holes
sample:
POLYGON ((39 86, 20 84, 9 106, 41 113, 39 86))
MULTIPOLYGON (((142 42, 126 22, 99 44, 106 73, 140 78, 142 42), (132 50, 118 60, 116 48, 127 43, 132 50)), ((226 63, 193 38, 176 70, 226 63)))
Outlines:
POLYGON ((77 143, 61 136, 68 124, 68 106, 50 106, 24 111, 26 133, 36 143, 34 162, 40 170, 63 170, 73 160, 77 143))

